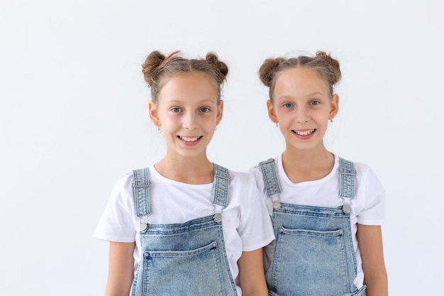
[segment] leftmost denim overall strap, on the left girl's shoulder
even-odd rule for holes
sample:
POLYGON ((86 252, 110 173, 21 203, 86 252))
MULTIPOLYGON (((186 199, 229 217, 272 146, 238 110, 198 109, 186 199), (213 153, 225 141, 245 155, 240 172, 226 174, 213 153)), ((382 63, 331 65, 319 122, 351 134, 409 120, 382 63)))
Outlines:
POLYGON ((135 214, 145 216, 150 214, 150 172, 148 168, 133 170, 133 191, 135 199, 135 214))

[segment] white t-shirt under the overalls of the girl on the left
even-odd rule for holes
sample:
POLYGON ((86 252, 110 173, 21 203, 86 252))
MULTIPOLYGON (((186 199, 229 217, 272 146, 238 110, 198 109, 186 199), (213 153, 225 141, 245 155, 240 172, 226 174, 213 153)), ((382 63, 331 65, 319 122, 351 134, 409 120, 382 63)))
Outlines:
MULTIPOLYGON (((150 224, 184 223, 214 214, 213 183, 191 185, 167 179, 150 166, 150 224)), ((238 294, 238 259, 243 251, 266 246, 274 239, 270 216, 255 180, 247 172, 230 171, 228 205, 222 212, 223 239, 226 255, 238 294)), ((135 214, 133 174, 122 175, 101 216, 94 237, 105 241, 135 241, 134 272, 140 262, 140 219, 135 214)))

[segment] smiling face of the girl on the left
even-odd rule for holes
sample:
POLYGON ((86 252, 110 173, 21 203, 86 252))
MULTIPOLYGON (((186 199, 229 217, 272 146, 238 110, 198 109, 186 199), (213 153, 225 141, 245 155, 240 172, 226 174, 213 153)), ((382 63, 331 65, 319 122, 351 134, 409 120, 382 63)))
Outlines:
POLYGON ((206 75, 192 72, 170 77, 157 103, 150 102, 150 118, 162 126, 168 153, 182 157, 206 156, 216 126, 222 119, 216 87, 206 75))

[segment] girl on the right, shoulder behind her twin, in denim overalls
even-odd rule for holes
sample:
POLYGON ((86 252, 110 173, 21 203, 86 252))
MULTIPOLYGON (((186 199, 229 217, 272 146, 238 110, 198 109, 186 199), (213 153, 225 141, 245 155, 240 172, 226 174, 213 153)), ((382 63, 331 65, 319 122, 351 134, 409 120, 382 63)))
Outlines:
POLYGON ((365 164, 323 144, 338 114, 337 60, 267 59, 260 80, 270 88, 270 119, 286 148, 252 168, 272 216, 276 240, 265 248, 270 295, 387 295, 382 253, 384 190, 365 164), (270 266, 271 261, 271 266, 270 266))

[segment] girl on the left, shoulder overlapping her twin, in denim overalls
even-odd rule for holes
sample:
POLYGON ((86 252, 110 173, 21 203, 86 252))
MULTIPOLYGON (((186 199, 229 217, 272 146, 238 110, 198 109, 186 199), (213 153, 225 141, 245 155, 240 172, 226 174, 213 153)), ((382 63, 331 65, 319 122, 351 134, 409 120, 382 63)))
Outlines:
POLYGON ((214 53, 154 51, 143 74, 167 153, 118 180, 96 228, 110 241, 106 295, 267 295, 262 246, 274 235, 255 181, 206 156, 228 67, 214 53))

